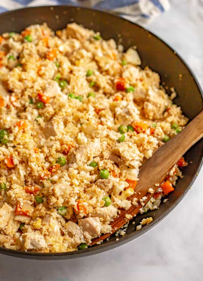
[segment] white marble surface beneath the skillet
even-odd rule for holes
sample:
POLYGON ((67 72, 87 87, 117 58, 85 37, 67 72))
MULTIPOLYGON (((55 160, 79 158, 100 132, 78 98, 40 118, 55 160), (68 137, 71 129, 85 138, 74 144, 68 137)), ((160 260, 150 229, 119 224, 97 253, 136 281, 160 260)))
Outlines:
MULTIPOLYGON (((203 1, 171 3, 170 11, 148 28, 182 55, 203 86, 203 1)), ((0 280, 202 280, 202 182, 203 170, 181 203, 157 226, 132 242, 75 260, 33 261, 0 255, 0 280)))

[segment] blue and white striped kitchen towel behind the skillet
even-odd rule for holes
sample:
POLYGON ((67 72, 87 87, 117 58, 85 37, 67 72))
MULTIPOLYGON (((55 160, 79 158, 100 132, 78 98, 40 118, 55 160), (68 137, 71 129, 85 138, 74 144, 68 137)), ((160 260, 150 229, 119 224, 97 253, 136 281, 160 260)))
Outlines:
POLYGON ((140 24, 148 23, 170 7, 169 0, 1 0, 0 13, 40 5, 74 5, 107 10, 140 24))

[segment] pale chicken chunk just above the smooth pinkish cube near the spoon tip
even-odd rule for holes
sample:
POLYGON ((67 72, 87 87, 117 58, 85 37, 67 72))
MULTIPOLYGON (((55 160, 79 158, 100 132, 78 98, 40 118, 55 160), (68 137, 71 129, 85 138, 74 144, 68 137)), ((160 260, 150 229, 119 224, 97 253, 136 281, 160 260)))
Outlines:
POLYGON ((110 205, 108 207, 97 207, 90 213, 91 217, 99 217, 100 221, 112 221, 117 215, 117 209, 110 205))

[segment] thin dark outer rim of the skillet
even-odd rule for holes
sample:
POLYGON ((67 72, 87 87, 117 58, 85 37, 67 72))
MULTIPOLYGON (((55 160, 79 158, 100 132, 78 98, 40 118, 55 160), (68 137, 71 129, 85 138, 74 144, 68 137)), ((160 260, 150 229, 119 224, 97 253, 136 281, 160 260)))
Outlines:
MULTIPOLYGON (((42 8, 42 7, 46 7, 46 8, 55 8, 55 7, 64 7, 64 9, 67 8, 78 8, 78 9, 82 9, 82 10, 91 10, 92 12, 99 12, 99 13, 104 13, 104 14, 108 14, 110 16, 119 18, 123 21, 128 21, 131 24, 135 24, 136 26, 138 26, 139 28, 145 30, 146 32, 150 33, 151 35, 155 36, 157 39, 159 39, 159 41, 161 41, 163 44, 165 44, 170 50, 172 50, 174 52, 174 55, 176 55, 181 61, 182 63, 184 63, 184 65, 187 67, 187 69, 189 70, 191 76, 193 77, 193 79, 195 80, 195 83, 199 89, 199 92, 202 96, 203 99, 203 91, 201 89, 200 83, 198 82, 195 74, 193 73, 193 71, 190 69, 190 67, 188 66, 188 64, 185 62, 185 60, 182 58, 181 55, 179 55, 176 50, 173 49, 172 46, 170 46, 170 44, 168 44, 166 41, 164 41, 162 38, 160 38, 158 35, 156 35, 156 33, 151 32, 150 30, 140 26, 139 24, 136 24, 132 21, 129 21, 125 18, 119 17, 118 15, 115 15, 113 13, 108 13, 108 12, 104 12, 101 10, 96 10, 96 9, 90 9, 90 8, 85 8, 85 7, 77 7, 77 6, 70 6, 70 5, 43 5, 43 6, 35 6, 35 7, 26 7, 26 8, 21 8, 21 9, 15 9, 15 10, 11 10, 5 13, 1 13, 0 14, 0 18, 1 15, 5 15, 5 14, 12 14, 15 13, 16 11, 22 11, 22 10, 32 10, 35 8, 42 8)), ((177 204, 182 200, 182 198, 186 195, 186 193, 188 192, 188 190, 191 188, 191 186, 193 185, 194 181, 196 180, 199 171, 203 165, 203 152, 202 152, 202 156, 201 156, 201 160, 199 162, 199 165, 195 171, 195 174, 193 175, 190 184, 187 186, 187 188, 185 189, 185 191, 182 193, 182 195, 176 199, 176 201, 173 203, 172 206, 170 206, 168 209, 166 209, 163 214, 159 217, 156 218, 155 220, 153 220, 150 224, 142 227, 142 229, 140 229, 139 231, 135 231, 131 234, 128 234, 124 237, 122 237, 119 241, 111 241, 108 244, 100 244, 98 246, 92 246, 86 250, 79 250, 79 251, 72 251, 72 252, 61 252, 61 253, 35 253, 35 252, 23 252, 23 251, 17 251, 17 250, 11 250, 11 249, 7 249, 7 248, 3 248, 0 247, 0 254, 7 254, 7 255, 11 255, 11 256, 15 256, 15 257, 19 257, 19 258, 29 258, 29 259, 36 259, 36 260, 62 260, 62 259, 71 259, 71 258, 79 258, 79 257, 84 257, 84 256, 90 256, 93 254, 99 254, 101 252, 104 251, 108 251, 111 250, 113 248, 116 248, 118 246, 121 246, 125 243, 130 242, 131 240, 135 239, 136 237, 139 237, 140 235, 144 234, 147 230, 151 229, 153 226, 155 226, 157 223, 159 223, 163 218, 165 218, 176 206, 177 204)))

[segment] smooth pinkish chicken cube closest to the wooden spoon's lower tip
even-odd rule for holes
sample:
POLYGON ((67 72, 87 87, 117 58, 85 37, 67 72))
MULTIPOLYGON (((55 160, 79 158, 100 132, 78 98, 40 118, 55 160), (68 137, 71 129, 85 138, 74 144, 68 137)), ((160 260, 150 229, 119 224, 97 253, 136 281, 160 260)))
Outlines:
POLYGON ((89 235, 99 235, 101 231, 101 223, 98 217, 83 218, 78 221, 78 225, 83 231, 87 231, 89 235))

